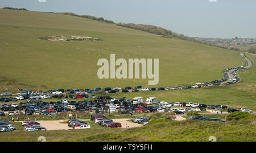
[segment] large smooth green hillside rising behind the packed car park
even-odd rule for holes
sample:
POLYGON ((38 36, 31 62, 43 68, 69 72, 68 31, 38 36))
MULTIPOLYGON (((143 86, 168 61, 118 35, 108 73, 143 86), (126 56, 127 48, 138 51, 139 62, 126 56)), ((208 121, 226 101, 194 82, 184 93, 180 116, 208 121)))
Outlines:
MULTIPOLYGON (((97 60, 159 58, 158 86, 221 78, 221 69, 242 65, 234 51, 205 46, 76 16, 0 10, 0 76, 48 88, 147 85, 147 79, 100 80, 97 60), (50 42, 40 36, 93 36, 100 42, 50 42), (10 62, 11 61, 11 62, 10 62), (97 84, 95 83, 97 82, 97 84)), ((25 89, 26 90, 26 89, 25 89)))

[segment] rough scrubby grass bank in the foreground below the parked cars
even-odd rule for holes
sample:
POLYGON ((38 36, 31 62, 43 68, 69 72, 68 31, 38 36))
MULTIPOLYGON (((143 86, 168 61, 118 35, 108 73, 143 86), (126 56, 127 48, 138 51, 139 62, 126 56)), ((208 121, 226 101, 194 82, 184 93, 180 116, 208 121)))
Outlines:
MULTIPOLYGON (((89 122, 89 121, 88 121, 89 122)), ((0 141, 255 141, 255 119, 232 122, 172 121, 131 129, 109 129, 92 122, 91 129, 35 131, 24 133, 22 127, 13 133, 2 133, 0 141)))

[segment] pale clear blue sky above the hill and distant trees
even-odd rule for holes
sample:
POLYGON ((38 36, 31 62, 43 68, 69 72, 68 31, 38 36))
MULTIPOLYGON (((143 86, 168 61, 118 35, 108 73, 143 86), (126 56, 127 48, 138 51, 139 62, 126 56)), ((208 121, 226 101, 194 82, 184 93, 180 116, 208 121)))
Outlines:
POLYGON ((93 15, 115 23, 152 24, 187 36, 213 38, 256 38, 255 6, 255 0, 0 1, 0 7, 93 15))

